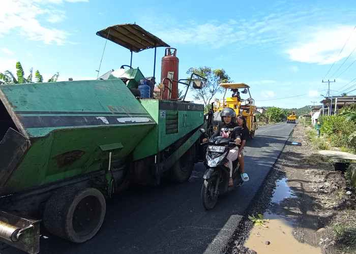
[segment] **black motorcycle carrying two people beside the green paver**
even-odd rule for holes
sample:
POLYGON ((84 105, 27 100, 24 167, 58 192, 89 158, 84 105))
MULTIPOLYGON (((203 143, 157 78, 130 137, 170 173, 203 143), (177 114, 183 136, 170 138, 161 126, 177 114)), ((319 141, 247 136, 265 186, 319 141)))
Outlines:
MULTIPOLYGON (((240 131, 241 127, 235 127, 233 131, 240 131)), ((205 133, 204 129, 200 129, 205 133)), ((241 178, 239 160, 232 162, 232 180, 233 185, 229 186, 230 168, 227 154, 230 149, 236 146, 232 139, 226 137, 214 137, 202 143, 205 145, 204 165, 207 168, 204 173, 204 182, 201 188, 201 201, 206 210, 214 208, 218 201, 218 196, 231 192, 236 186, 244 181, 241 178)))

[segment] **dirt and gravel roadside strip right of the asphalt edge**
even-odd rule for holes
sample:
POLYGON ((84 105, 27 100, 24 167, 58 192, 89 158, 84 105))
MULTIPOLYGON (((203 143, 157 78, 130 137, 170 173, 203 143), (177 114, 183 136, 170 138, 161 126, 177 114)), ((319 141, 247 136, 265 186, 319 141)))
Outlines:
POLYGON ((354 192, 344 175, 334 170, 329 159, 317 153, 318 148, 306 134, 309 130, 301 123, 294 127, 258 197, 223 253, 256 253, 251 246, 257 246, 262 239, 264 247, 257 251, 258 254, 307 253, 299 243, 311 248, 308 253, 356 253, 354 192), (280 202, 272 202, 276 187, 283 181, 288 185, 288 193, 280 202), (259 227, 256 233, 258 226, 253 226, 247 215, 257 216, 258 213, 270 222, 264 223, 269 228, 259 227), (276 217, 290 225, 290 230, 276 224, 276 220, 272 223, 276 217), (297 241, 290 244, 279 237, 276 230, 283 237, 288 235, 297 241))

